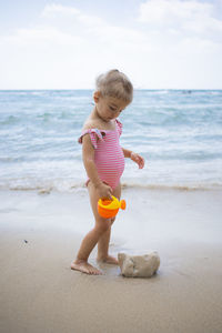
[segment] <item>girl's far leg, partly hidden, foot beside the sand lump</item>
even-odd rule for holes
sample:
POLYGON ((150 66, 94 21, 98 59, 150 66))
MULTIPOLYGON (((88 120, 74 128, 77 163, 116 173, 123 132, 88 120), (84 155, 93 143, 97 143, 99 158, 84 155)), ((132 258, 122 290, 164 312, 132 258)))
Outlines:
MULTIPOLYGON (((121 196, 121 184, 119 184, 114 191, 113 195, 120 200, 121 196)), ((114 222, 115 218, 111 219, 111 224, 114 222)), ((110 228, 100 236, 98 242, 98 261, 119 264, 118 260, 111 255, 109 255, 109 243, 111 235, 111 224, 110 228)))

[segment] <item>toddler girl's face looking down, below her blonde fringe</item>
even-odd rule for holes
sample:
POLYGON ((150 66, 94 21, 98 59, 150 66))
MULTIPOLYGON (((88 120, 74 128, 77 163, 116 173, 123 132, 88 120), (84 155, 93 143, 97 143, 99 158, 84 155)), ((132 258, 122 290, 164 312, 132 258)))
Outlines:
POLYGON ((118 118, 128 105, 123 100, 113 97, 101 97, 97 93, 94 93, 94 102, 99 117, 107 122, 118 118))

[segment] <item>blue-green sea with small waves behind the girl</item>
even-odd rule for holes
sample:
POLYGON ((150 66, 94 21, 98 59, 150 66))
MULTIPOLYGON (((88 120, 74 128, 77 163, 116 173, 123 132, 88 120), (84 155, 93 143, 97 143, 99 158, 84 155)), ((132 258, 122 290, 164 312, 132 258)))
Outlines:
MULTIPOLYGON (((78 138, 92 90, 0 91, 0 189, 72 191, 85 171, 78 138)), ((135 90, 120 115, 127 160, 122 183, 222 188, 222 90, 135 90)))

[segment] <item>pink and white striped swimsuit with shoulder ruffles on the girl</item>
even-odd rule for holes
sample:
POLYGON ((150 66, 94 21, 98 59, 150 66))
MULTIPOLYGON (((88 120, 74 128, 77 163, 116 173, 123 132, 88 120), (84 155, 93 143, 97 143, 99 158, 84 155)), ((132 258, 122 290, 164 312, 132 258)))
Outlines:
MULTIPOLYGON (((79 138, 79 143, 82 143, 82 137, 90 134, 99 178, 113 190, 120 183, 124 170, 124 154, 119 143, 121 133, 122 123, 115 120, 115 130, 113 131, 89 129, 83 131, 79 138)), ((89 179, 87 184, 88 182, 89 179)))

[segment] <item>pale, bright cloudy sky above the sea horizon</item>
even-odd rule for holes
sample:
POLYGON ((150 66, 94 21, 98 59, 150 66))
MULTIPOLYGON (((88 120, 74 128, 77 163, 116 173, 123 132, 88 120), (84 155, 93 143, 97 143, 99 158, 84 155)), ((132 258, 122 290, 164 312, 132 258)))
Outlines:
POLYGON ((0 89, 222 89, 222 0, 0 0, 0 89))

